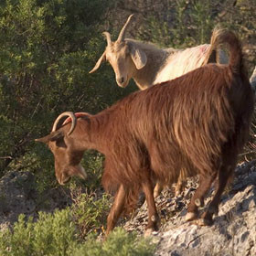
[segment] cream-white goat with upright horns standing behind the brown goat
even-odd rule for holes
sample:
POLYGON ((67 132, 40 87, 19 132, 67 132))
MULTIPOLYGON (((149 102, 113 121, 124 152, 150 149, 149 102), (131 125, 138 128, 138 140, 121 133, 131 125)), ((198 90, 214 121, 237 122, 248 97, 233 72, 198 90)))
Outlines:
MULTIPOLYGON (((107 60, 112 65, 116 82, 120 87, 126 87, 133 78, 139 89, 144 90, 156 83, 175 79, 208 62, 228 63, 225 52, 221 50, 218 55, 215 50, 209 55, 208 52, 212 50, 209 44, 187 49, 164 49, 157 48, 152 43, 124 38, 132 16, 128 17, 115 42, 112 42, 109 32, 102 33, 107 39, 107 47, 90 73, 99 69, 101 62, 107 60)), ((176 185, 176 195, 183 187, 185 179, 183 173, 184 171, 181 170, 176 185)), ((155 197, 162 189, 163 186, 157 183, 155 197)))

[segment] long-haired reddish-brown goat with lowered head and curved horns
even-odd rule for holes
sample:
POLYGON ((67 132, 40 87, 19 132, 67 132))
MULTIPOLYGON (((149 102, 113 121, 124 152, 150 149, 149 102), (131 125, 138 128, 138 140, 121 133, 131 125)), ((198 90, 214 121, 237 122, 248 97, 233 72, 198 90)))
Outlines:
POLYGON ((81 175, 85 150, 96 149, 105 155, 102 185, 115 193, 107 234, 141 190, 148 208, 146 232, 157 229, 154 181, 176 182, 181 168, 187 176, 199 176, 186 219, 197 219, 197 208, 214 180, 216 192, 202 224, 211 224, 213 214, 218 213, 220 196, 248 137, 254 97, 240 41, 228 31, 215 35, 214 48, 229 45, 229 65, 208 64, 137 91, 96 115, 84 113, 76 118, 68 112, 71 128, 61 121, 67 115, 64 112, 53 131, 37 139, 52 151, 60 184, 81 175))

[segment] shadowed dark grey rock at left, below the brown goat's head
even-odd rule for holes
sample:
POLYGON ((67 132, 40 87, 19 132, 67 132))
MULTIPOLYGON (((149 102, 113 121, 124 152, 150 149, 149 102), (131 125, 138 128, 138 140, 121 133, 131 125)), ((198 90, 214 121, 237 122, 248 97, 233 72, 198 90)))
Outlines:
POLYGON ((28 171, 9 171, 0 179, 0 229, 13 225, 20 214, 37 218, 38 211, 53 212, 70 204, 65 189, 52 188, 38 195, 37 181, 28 171))

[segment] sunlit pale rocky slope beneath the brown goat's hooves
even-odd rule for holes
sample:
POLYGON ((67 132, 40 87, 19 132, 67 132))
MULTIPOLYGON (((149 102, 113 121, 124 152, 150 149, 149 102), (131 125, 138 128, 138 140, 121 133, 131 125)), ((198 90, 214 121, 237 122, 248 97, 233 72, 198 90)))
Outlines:
MULTIPOLYGON (((256 161, 236 169, 233 184, 222 196, 219 216, 211 227, 187 223, 187 205, 197 182, 188 181, 182 195, 173 197, 169 189, 157 197, 161 229, 154 234, 155 255, 256 255, 256 161)), ((211 191, 212 192, 212 191, 211 191)), ((206 205, 211 195, 206 199, 206 205)), ((146 206, 125 223, 128 230, 144 232, 146 206)))

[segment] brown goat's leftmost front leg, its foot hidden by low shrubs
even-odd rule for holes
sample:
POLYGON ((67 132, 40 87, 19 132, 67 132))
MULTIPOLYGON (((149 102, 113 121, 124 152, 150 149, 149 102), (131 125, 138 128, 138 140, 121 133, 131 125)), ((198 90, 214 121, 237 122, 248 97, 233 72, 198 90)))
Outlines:
POLYGON ((115 194, 112 208, 108 215, 106 236, 115 227, 117 220, 119 219, 120 215, 123 212, 125 197, 126 197, 126 191, 125 191, 123 185, 120 185, 120 187, 118 188, 118 190, 115 194))

